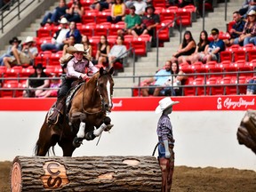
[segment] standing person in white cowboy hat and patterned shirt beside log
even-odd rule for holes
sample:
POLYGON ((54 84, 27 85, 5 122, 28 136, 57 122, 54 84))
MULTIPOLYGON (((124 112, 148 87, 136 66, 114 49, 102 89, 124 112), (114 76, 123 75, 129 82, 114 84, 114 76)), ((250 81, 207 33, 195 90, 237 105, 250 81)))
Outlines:
POLYGON ((162 172, 162 192, 171 191, 172 174, 174 171, 174 139, 172 134, 172 123, 169 114, 172 113, 172 106, 180 103, 173 101, 170 97, 166 97, 159 101, 155 112, 162 112, 157 123, 158 136, 158 162, 162 172))

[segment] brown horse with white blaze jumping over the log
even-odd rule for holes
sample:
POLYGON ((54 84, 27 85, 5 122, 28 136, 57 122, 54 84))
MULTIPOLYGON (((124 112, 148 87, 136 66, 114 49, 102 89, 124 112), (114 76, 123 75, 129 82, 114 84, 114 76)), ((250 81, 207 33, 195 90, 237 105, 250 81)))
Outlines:
POLYGON ((74 94, 70 109, 66 106, 67 115, 63 115, 57 124, 47 123, 47 113, 36 142, 36 156, 45 156, 51 147, 54 153, 53 147, 57 143, 63 156, 72 156, 84 139, 93 140, 113 126, 107 116, 113 106, 113 72, 114 68, 109 71, 100 68, 87 83, 82 84, 74 94))

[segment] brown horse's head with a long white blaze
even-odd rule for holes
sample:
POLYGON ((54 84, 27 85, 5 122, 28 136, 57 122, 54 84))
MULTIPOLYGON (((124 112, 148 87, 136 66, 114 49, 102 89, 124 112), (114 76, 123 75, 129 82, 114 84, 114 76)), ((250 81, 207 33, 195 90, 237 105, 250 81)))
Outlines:
POLYGON ((108 112, 110 112, 111 108, 113 107, 113 73, 114 68, 110 68, 108 71, 104 70, 103 68, 100 68, 100 76, 97 80, 97 89, 100 92, 102 108, 108 112))

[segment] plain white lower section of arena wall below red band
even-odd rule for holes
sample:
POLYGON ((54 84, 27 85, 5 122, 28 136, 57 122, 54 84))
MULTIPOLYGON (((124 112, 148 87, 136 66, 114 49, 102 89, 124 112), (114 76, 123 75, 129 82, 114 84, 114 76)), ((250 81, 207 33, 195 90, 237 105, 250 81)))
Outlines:
MULTIPOLYGON (((1 111, 0 161, 15 156, 32 156, 46 112, 1 111)), ((193 167, 235 167, 256 171, 256 156, 239 145, 236 131, 245 111, 173 111, 171 121, 175 142, 175 164, 193 167)), ((116 111, 110 133, 84 140, 74 156, 151 156, 156 146, 154 111, 116 111)), ((59 147, 55 148, 61 156, 59 147)), ((157 151, 155 156, 157 156, 157 151)))

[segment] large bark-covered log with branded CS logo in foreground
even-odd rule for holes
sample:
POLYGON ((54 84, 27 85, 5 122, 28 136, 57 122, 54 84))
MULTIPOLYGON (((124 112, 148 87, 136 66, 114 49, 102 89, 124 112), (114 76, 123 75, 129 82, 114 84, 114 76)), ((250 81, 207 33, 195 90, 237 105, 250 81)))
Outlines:
POLYGON ((16 156, 11 188, 20 191, 161 191, 154 156, 16 156))

